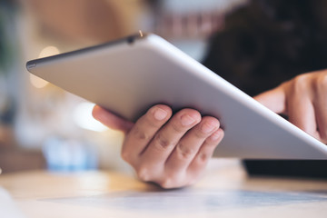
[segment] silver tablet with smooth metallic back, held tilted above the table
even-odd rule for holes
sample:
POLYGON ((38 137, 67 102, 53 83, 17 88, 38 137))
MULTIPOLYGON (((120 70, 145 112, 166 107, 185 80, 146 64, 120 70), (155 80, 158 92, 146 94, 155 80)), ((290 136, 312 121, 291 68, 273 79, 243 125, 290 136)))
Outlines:
POLYGON ((154 104, 213 115, 225 133, 215 156, 327 159, 327 145, 158 35, 140 33, 26 66, 30 73, 131 121, 154 104))

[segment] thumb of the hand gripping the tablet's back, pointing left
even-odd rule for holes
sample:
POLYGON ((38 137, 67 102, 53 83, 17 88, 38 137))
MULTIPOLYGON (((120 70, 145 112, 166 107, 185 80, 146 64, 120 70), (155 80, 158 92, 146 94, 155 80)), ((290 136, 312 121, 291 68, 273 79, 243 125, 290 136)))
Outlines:
POLYGON ((124 120, 123 118, 105 110, 99 105, 94 106, 92 115, 94 116, 95 120, 101 122, 111 129, 122 131, 124 134, 128 133, 134 125, 132 122, 124 120))

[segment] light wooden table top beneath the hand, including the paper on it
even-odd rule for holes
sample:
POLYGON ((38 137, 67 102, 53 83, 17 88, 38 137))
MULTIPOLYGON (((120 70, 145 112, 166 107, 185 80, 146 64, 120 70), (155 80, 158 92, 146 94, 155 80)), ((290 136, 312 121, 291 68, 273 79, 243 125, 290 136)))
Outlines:
POLYGON ((3 174, 0 187, 35 218, 327 217, 327 181, 248 177, 239 164, 227 165, 211 163, 199 183, 170 191, 101 171, 3 174))

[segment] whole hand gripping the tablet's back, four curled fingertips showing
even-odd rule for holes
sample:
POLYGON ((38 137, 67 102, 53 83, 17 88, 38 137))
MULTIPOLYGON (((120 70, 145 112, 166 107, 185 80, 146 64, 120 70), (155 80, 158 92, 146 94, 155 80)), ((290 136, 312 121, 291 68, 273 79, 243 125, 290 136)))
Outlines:
POLYGON ((99 106, 94 107, 93 114, 103 124, 126 134, 122 157, 134 167, 138 177, 163 188, 196 182, 223 139, 219 121, 202 117, 193 109, 172 115, 170 107, 158 104, 135 124, 99 106))

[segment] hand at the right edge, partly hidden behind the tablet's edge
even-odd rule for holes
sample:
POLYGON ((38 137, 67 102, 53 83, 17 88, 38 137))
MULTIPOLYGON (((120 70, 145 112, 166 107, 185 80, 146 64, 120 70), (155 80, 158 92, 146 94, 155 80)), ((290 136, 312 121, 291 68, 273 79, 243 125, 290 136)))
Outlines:
POLYGON ((298 75, 254 99, 327 144, 327 70, 298 75))

